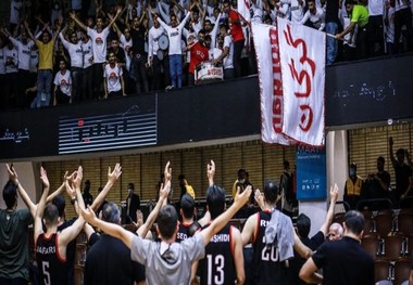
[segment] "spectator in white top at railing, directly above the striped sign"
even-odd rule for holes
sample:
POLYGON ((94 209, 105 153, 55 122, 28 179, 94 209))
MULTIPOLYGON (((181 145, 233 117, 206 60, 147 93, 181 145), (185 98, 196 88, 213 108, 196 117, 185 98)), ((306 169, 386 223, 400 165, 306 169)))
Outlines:
POLYGON ((125 81, 123 80, 123 70, 116 62, 116 56, 113 52, 109 53, 109 63, 104 66, 103 72, 104 80, 104 99, 110 95, 126 96, 125 81))

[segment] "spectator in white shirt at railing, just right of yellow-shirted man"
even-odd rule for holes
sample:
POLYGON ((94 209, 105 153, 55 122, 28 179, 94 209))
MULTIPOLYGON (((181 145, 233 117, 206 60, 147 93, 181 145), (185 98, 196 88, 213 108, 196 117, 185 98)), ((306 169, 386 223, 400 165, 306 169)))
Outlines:
POLYGON ((54 76, 53 106, 72 103, 72 75, 66 63, 59 61, 60 70, 54 76))

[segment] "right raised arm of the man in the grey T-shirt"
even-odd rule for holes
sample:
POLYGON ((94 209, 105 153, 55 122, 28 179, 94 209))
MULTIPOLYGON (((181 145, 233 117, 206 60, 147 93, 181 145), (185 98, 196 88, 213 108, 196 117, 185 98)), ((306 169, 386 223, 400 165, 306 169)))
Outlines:
POLYGON ((233 216, 248 202, 251 191, 251 185, 248 185, 242 193, 237 191, 233 205, 216 219, 214 219, 210 226, 201 231, 200 234, 202 234, 204 245, 208 245, 212 236, 220 232, 230 220, 230 218, 233 218, 233 216))

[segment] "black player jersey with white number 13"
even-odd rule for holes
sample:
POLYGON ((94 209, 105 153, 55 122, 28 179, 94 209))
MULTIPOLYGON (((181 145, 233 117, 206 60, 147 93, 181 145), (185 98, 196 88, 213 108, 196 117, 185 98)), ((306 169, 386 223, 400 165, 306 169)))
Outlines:
POLYGON ((233 229, 229 224, 225 225, 206 245, 205 257, 199 261, 202 285, 234 285, 237 276, 231 247, 233 229))

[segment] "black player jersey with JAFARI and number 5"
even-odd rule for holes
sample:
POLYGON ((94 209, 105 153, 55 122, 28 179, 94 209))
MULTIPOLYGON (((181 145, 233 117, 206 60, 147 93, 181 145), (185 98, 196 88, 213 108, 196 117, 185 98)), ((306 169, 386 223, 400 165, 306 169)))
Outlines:
POLYGON ((36 261, 39 269, 39 284, 67 284, 67 262, 59 254, 59 235, 46 237, 40 234, 36 242, 36 261))

